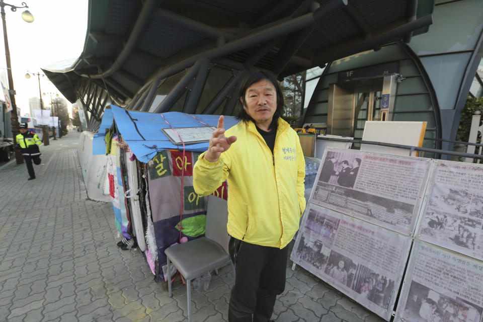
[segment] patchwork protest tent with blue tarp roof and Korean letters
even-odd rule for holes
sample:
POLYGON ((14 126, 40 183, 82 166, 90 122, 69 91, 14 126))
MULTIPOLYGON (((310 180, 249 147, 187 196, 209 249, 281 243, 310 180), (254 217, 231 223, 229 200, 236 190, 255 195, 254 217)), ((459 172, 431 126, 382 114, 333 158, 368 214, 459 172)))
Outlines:
MULTIPOLYGON (((192 174, 198 156, 208 148, 207 141, 174 144, 163 130, 181 133, 183 129, 209 128, 208 133, 216 128, 219 116, 153 114, 114 105, 109 111, 101 129, 110 129, 112 135, 107 143, 111 151, 106 189, 113 200, 116 226, 124 238, 136 237, 155 280, 163 281, 167 274, 164 251, 204 235, 207 197, 195 193, 192 174)), ((226 116, 225 128, 237 122, 226 116)), ((96 150, 101 151, 106 135, 97 135, 96 150)), ((214 195, 227 199, 226 182, 214 195)))

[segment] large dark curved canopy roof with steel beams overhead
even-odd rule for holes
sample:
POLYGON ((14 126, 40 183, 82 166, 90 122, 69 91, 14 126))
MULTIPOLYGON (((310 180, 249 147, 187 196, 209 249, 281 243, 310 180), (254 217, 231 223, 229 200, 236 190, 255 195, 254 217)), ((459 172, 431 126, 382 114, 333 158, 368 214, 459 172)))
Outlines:
POLYGON ((89 0, 81 56, 42 70, 72 103, 90 78, 121 104, 200 58, 283 77, 408 42, 427 31, 433 8, 417 0, 89 0))

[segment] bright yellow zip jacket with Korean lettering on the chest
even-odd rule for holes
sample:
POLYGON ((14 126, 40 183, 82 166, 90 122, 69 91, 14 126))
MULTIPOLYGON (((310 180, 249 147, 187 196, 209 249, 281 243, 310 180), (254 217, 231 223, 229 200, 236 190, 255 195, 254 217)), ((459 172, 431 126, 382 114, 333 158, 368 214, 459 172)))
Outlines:
POLYGON ((193 169, 197 194, 211 194, 228 183, 228 233, 247 243, 287 246, 305 209, 305 160, 297 133, 279 118, 274 155, 253 122, 225 132, 237 140, 209 162, 202 153, 193 169))

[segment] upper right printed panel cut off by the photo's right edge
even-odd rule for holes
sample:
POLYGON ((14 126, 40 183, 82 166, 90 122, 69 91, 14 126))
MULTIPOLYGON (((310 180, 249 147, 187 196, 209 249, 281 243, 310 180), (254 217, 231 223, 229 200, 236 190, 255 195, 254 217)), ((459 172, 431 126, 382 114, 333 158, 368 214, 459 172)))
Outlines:
POLYGON ((483 260, 483 165, 433 162, 417 238, 483 260))

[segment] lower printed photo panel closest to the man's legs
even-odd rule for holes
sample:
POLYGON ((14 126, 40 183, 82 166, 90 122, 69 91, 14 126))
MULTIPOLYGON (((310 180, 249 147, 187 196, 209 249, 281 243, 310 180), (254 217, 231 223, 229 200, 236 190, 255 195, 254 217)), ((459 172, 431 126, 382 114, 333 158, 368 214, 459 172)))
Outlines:
POLYGON ((290 259, 389 320, 411 238, 309 203, 290 259))

